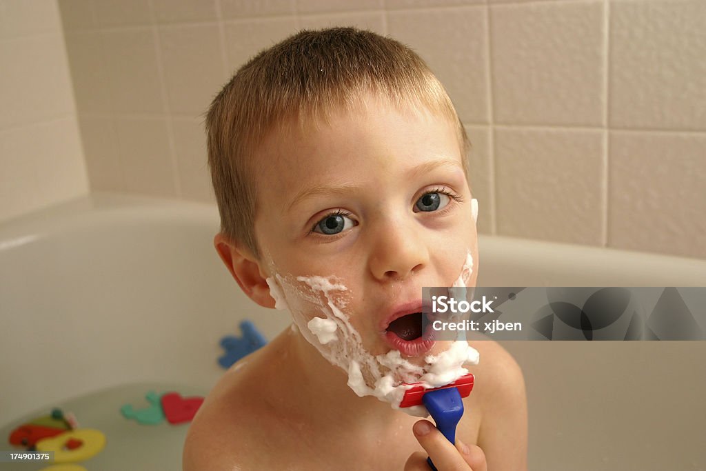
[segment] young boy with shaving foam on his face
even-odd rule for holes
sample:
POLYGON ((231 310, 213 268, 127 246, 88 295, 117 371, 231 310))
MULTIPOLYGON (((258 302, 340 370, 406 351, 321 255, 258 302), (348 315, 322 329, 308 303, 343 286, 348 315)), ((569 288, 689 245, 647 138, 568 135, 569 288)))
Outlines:
POLYGON ((525 470, 515 361, 417 327, 421 287, 474 286, 478 260, 467 137, 424 61, 372 32, 303 31, 240 68, 206 125, 215 247, 294 323, 209 394, 184 470, 525 470), (477 381, 453 446, 395 407, 402 383, 462 366, 477 381))

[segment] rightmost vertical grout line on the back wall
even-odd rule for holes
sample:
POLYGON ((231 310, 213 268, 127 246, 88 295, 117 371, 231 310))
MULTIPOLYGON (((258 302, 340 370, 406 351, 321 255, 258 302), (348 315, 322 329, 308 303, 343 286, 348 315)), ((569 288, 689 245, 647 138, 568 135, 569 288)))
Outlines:
POLYGON ((603 1, 603 178, 602 178, 602 234, 601 242, 604 247, 608 246, 608 234, 610 224, 610 138, 609 138, 609 113, 610 113, 610 1, 603 1))

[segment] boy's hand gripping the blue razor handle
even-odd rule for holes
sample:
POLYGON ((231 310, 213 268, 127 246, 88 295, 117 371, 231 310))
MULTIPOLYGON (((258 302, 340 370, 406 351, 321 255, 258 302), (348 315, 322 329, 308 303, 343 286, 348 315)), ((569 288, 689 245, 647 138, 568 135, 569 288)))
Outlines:
MULTIPOLYGON (((420 420, 414 424, 413 430, 417 441, 429 453, 438 471, 488 471, 485 453, 478 446, 466 445, 459 439, 456 439, 456 446, 453 446, 428 420, 420 420)), ((426 455, 421 451, 412 453, 405 463, 405 471, 430 469, 426 455)))

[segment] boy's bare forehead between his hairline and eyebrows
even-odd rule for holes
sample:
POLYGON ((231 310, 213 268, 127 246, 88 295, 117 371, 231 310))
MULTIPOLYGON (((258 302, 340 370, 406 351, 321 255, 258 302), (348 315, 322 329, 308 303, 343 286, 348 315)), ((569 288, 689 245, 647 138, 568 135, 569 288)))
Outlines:
MULTIPOLYGON (((455 127, 448 120, 435 117, 433 124, 429 123, 429 131, 424 131, 431 137, 417 139, 420 126, 427 125, 424 121, 415 120, 410 123, 409 131, 400 130, 402 137, 390 136, 378 130, 375 121, 368 126, 368 112, 346 110, 333 119, 335 128, 329 129, 330 121, 323 119, 311 119, 308 127, 294 120, 278 126, 260 149, 261 165, 256 167, 258 193, 265 185, 266 193, 287 199, 289 207, 304 196, 353 191, 382 171, 403 179, 418 179, 440 167, 464 174, 455 127), (439 126, 445 127, 445 131, 440 132, 439 126), (370 157, 378 151, 376 158, 370 157), (282 191, 273 191, 275 188, 282 191)), ((405 126, 404 121, 401 126, 405 126)))

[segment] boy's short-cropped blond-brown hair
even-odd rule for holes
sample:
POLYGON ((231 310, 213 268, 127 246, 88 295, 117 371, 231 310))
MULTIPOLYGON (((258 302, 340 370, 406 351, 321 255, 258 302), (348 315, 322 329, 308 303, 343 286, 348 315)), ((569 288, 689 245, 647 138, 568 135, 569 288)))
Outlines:
POLYGON ((372 93, 398 109, 426 109, 457 123, 467 173, 470 144, 443 85, 404 44, 355 28, 303 30, 257 54, 215 97, 206 116, 208 163, 221 232, 256 258, 258 145, 275 128, 351 111, 372 93))

